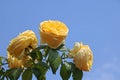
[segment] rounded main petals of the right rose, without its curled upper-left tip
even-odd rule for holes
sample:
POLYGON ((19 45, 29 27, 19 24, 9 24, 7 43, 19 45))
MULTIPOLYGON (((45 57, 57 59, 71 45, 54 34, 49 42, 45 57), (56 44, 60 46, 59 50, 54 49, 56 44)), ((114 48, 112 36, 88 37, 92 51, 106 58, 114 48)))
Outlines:
POLYGON ((74 56, 74 63, 80 70, 89 71, 93 64, 93 54, 88 45, 83 45, 74 56))

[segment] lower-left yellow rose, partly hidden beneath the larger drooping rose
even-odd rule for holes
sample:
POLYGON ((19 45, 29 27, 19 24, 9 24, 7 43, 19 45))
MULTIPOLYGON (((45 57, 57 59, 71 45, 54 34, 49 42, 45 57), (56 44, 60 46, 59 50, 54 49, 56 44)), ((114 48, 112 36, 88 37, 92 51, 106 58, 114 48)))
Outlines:
POLYGON ((24 67, 28 67, 26 65, 29 65, 27 62, 30 60, 30 56, 24 55, 21 59, 18 59, 16 57, 11 56, 8 53, 8 66, 9 68, 24 68, 24 67))

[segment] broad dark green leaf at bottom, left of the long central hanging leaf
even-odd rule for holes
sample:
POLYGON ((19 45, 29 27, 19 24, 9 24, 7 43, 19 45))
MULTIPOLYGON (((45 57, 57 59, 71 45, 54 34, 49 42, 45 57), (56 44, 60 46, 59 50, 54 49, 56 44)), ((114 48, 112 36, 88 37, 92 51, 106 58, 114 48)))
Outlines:
POLYGON ((37 80, 46 80, 46 72, 48 70, 48 65, 44 62, 39 62, 34 64, 32 71, 36 76, 37 80))

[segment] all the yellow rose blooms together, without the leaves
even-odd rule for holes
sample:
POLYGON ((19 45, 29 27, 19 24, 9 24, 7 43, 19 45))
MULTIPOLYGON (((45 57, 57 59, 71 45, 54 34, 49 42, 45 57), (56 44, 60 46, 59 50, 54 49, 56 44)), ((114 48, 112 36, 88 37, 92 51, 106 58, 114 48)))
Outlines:
MULTIPOLYGON (((60 21, 48 20, 40 23, 40 43, 47 44, 52 49, 57 49, 66 39, 69 29, 60 21)), ((32 30, 24 31, 12 39, 8 51, 8 64, 10 68, 29 67, 28 55, 38 45, 38 39, 32 30), (26 66, 27 65, 27 66, 26 66)), ((68 53, 73 58, 75 66, 83 71, 89 71, 93 64, 93 54, 88 45, 76 42, 74 48, 68 53)))

